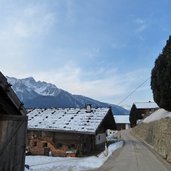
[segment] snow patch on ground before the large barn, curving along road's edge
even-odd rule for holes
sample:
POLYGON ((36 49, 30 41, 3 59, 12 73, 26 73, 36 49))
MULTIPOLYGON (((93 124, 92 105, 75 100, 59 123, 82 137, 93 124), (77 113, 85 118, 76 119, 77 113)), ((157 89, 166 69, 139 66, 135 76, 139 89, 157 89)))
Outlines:
MULTIPOLYGON (((26 156, 27 171, 83 171, 97 169, 109 158, 113 151, 123 146, 123 141, 111 144, 99 156, 91 157, 48 157, 26 156)), ((26 171, 26 170, 25 170, 26 171)))

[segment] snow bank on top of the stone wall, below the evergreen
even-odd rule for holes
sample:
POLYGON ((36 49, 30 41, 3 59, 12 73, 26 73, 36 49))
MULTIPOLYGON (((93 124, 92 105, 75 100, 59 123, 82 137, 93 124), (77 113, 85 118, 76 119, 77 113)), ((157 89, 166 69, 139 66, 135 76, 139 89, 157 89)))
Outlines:
POLYGON ((144 123, 149 123, 149 122, 153 122, 156 120, 160 120, 162 118, 166 118, 166 117, 170 117, 171 118, 171 112, 168 112, 164 109, 158 109, 157 111, 155 111, 154 113, 152 113, 150 116, 148 116, 147 118, 145 118, 143 120, 144 123))

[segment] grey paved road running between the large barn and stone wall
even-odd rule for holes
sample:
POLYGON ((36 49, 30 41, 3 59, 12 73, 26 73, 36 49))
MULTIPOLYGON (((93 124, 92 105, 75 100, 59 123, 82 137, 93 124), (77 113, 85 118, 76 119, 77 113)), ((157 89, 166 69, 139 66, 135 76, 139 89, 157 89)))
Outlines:
POLYGON ((97 171, 171 171, 130 131, 122 131, 121 135, 124 147, 115 151, 97 171))

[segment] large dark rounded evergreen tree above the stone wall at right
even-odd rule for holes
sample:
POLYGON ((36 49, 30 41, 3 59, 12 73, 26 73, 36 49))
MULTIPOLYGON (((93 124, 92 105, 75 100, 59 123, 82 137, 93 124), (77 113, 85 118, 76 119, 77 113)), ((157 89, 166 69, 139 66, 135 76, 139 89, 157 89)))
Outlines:
POLYGON ((171 36, 151 72, 151 89, 159 107, 171 111, 171 36))

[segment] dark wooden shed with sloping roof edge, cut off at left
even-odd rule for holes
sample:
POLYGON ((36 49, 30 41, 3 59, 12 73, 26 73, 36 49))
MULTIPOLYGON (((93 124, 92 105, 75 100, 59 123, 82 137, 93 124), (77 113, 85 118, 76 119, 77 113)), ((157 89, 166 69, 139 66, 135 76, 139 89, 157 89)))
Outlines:
POLYGON ((0 171, 24 170, 26 131, 26 110, 0 72, 0 171))

